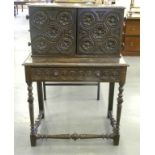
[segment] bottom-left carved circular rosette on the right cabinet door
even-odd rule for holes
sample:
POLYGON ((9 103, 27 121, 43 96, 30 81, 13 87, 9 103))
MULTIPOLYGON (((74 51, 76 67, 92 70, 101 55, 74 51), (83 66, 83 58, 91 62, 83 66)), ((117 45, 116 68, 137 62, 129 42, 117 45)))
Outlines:
POLYGON ((84 53, 89 53, 93 50, 94 43, 89 38, 84 38, 80 41, 80 51, 84 53))

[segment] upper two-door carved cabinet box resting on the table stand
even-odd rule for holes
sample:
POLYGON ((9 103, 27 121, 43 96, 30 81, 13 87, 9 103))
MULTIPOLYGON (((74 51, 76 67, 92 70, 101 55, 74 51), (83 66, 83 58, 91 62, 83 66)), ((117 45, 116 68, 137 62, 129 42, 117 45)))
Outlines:
POLYGON ((29 15, 33 56, 120 56, 123 7, 30 5, 29 15))

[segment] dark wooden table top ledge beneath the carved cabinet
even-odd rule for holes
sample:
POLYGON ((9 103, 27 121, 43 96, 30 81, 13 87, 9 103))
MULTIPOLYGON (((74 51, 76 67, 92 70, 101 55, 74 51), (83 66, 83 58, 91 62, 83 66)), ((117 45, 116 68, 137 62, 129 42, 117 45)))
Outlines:
POLYGON ((121 57, 27 57, 24 66, 52 66, 52 67, 103 67, 103 66, 128 66, 121 57))

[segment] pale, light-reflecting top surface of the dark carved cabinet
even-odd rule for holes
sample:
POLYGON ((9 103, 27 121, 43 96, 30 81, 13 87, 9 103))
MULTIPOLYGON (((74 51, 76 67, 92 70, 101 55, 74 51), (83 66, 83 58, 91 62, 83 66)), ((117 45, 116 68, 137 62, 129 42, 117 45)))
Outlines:
POLYGON ((60 7, 60 8, 118 8, 125 9, 123 6, 104 5, 104 4, 89 4, 89 3, 35 3, 28 4, 29 7, 60 7))

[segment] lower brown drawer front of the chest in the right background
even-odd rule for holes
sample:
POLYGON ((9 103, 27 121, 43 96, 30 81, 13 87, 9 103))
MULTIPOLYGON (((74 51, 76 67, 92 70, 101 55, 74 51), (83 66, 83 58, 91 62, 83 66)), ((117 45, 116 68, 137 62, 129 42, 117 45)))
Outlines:
POLYGON ((140 51, 140 38, 139 37, 126 37, 125 38, 125 51, 140 51))

